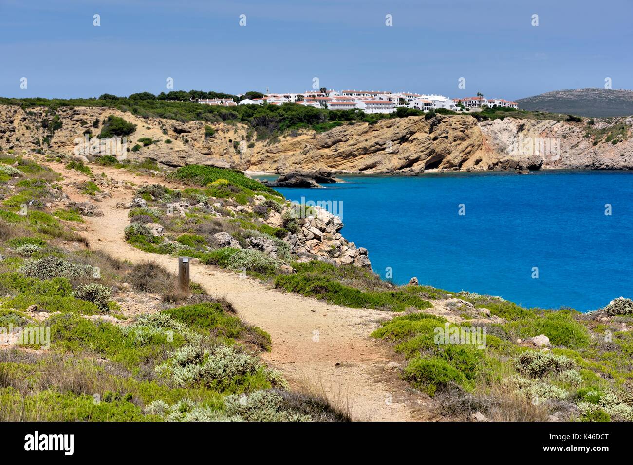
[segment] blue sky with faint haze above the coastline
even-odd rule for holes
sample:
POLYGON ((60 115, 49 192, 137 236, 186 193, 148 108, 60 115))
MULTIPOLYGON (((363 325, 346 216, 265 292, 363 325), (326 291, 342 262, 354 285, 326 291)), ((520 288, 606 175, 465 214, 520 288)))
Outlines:
POLYGON ((630 89, 632 20, 631 0, 0 0, 0 95, 630 89))

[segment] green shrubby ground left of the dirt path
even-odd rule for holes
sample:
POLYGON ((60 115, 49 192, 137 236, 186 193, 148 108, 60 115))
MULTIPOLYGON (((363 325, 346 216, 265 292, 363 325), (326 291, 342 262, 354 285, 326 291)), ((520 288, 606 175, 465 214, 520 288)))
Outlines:
POLYGON ((0 421, 348 420, 289 390, 260 360, 270 335, 229 301, 87 248, 62 179, 0 154, 0 421))

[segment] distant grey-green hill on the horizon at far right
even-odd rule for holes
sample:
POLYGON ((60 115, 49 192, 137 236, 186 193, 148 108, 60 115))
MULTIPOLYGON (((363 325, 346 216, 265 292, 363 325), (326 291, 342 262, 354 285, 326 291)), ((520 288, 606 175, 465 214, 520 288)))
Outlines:
POLYGON ((555 90, 517 100, 522 110, 540 110, 579 116, 606 117, 633 115, 633 90, 555 90))

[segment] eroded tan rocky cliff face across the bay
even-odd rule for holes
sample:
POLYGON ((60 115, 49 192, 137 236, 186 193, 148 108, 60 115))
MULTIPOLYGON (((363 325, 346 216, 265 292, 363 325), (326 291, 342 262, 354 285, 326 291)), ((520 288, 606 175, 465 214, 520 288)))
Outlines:
POLYGON ((633 169, 632 117, 595 119, 593 124, 587 119, 579 123, 516 118, 478 122, 472 116, 409 117, 373 125, 348 124, 322 134, 304 131, 271 143, 257 141, 244 124, 180 123, 87 107, 56 110, 61 128, 51 133, 51 124, 42 124, 53 118, 45 108, 23 111, 0 106, 0 147, 16 154, 39 149, 73 155, 77 138, 87 132, 99 135, 111 114, 137 125, 128 136, 128 148, 139 138, 155 141, 127 152, 129 159, 149 158, 167 166, 211 164, 277 173, 303 169, 367 174, 633 169), (204 126, 211 126, 215 134, 205 136, 204 126), (613 140, 618 142, 613 144, 613 140))

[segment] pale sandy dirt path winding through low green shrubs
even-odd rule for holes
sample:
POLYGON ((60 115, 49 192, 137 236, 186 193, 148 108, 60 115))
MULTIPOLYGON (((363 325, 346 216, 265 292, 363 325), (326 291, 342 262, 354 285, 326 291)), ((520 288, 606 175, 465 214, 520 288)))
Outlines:
MULTIPOLYGON (((64 191, 72 200, 89 200, 76 188, 67 186, 72 181, 85 180, 83 174, 65 169, 61 164, 48 165, 63 174, 64 191)), ((165 184, 162 179, 135 176, 123 169, 92 169, 120 181, 165 184)), ((175 258, 146 253, 123 240, 123 229, 129 224, 128 210, 116 208, 116 203, 130 202, 133 192, 124 188, 111 189, 111 198, 97 203, 104 216, 85 217, 86 231, 83 234, 89 239, 91 248, 132 263, 153 260, 176 272, 175 258)), ((293 385, 324 392, 332 403, 349 409, 355 420, 428 418, 424 408, 428 400, 412 392, 394 372, 384 370, 384 365, 394 356, 384 344, 368 337, 377 322, 389 316, 385 312, 345 308, 282 293, 259 281, 242 279, 239 274, 207 265, 192 265, 191 278, 208 293, 225 296, 244 320, 270 333, 272 352, 263 354, 262 358, 283 371, 293 385)))

